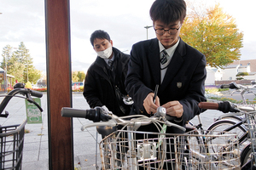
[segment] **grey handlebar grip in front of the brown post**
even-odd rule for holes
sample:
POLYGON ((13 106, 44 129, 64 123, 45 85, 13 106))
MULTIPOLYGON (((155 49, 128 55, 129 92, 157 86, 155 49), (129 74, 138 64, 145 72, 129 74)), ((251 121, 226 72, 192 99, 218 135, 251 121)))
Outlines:
POLYGON ((79 110, 79 109, 73 109, 73 108, 69 108, 69 107, 62 107, 61 116, 85 118, 86 111, 79 110))

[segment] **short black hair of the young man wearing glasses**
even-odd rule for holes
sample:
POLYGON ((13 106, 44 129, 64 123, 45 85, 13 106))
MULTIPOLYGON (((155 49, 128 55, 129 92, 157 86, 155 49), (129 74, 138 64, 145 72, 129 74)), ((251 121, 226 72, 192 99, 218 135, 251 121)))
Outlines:
POLYGON ((166 25, 186 17, 187 5, 184 0, 155 0, 149 14, 151 20, 160 20, 166 25))

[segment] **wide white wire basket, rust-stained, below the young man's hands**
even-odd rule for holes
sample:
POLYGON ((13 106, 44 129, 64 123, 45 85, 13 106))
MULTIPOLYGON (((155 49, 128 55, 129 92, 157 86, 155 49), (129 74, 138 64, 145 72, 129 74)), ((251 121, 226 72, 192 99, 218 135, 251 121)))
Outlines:
POLYGON ((239 169, 236 134, 116 131, 100 143, 102 169, 239 169), (130 138, 128 138, 130 136, 130 138))

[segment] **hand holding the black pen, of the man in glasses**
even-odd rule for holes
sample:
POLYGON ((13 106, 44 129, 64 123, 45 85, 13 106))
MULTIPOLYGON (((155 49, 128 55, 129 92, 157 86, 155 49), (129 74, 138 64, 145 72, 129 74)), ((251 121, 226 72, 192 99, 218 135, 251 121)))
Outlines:
POLYGON ((146 99, 143 100, 144 109, 148 114, 155 113, 157 108, 160 106, 159 98, 156 96, 155 103, 153 102, 154 94, 150 93, 147 95, 146 99))

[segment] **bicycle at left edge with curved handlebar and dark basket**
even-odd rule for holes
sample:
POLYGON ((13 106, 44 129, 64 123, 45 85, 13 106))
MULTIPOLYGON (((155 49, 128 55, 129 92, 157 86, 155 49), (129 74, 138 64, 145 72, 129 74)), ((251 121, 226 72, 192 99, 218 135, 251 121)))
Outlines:
MULTIPOLYGON (((43 109, 32 99, 32 96, 41 98, 42 93, 25 88, 23 83, 16 83, 14 89, 9 94, 1 95, 4 97, 0 104, 0 117, 8 117, 9 112, 3 110, 13 97, 26 99, 28 102, 37 105, 40 111, 43 109), (21 94, 23 96, 17 95, 21 94)), ((22 153, 24 145, 26 120, 19 125, 0 126, 0 169, 21 169, 22 153)))

